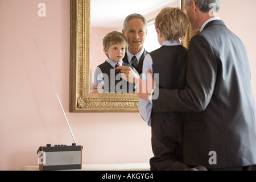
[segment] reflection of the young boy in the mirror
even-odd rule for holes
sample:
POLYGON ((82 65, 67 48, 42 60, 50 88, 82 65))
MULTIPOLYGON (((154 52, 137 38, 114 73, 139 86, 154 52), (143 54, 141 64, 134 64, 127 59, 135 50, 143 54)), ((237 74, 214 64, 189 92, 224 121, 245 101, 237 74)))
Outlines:
POLYGON ((119 66, 131 67, 123 63, 127 48, 127 40, 121 32, 113 31, 108 33, 103 39, 103 51, 108 60, 98 65, 94 73, 94 89, 102 93, 133 93, 134 86, 121 78, 119 66))

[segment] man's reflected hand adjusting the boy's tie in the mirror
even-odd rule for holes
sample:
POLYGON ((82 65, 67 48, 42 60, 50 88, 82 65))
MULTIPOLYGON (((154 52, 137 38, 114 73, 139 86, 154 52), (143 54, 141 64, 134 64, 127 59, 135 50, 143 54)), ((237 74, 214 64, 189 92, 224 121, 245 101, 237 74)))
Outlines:
POLYGON ((132 68, 126 66, 117 67, 121 71, 121 77, 123 80, 136 85, 139 81, 139 75, 136 74, 132 68))

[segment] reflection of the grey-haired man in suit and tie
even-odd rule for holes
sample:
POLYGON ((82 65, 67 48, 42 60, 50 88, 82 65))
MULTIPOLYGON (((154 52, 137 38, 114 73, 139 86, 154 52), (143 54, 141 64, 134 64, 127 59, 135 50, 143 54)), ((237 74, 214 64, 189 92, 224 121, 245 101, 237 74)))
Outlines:
MULTIPOLYGON (((143 48, 147 35, 147 20, 140 14, 131 14, 123 22, 123 35, 125 35, 128 47, 123 61, 133 66, 141 75, 144 57, 147 55, 143 48)), ((119 67, 122 73, 130 71, 129 67, 119 67)))

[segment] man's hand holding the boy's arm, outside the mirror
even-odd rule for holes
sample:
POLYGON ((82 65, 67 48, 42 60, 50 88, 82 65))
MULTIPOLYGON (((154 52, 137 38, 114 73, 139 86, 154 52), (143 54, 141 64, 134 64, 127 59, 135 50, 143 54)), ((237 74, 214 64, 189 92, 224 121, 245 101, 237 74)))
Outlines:
POLYGON ((144 100, 149 100, 152 90, 156 88, 155 81, 152 78, 151 70, 147 70, 147 81, 139 80, 139 85, 137 88, 137 97, 143 98, 144 100))

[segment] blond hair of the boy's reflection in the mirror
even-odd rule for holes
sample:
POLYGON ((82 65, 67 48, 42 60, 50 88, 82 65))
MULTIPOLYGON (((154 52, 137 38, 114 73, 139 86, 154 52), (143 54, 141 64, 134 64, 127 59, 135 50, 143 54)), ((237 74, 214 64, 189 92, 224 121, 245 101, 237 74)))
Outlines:
MULTIPOLYGON (((104 39, 103 42, 103 48, 106 50, 109 49, 110 46, 113 44, 123 44, 125 46, 125 50, 127 49, 127 40, 125 36, 121 32, 113 31, 109 32, 104 39)), ((109 55, 106 54, 106 56, 109 57, 109 55)))

